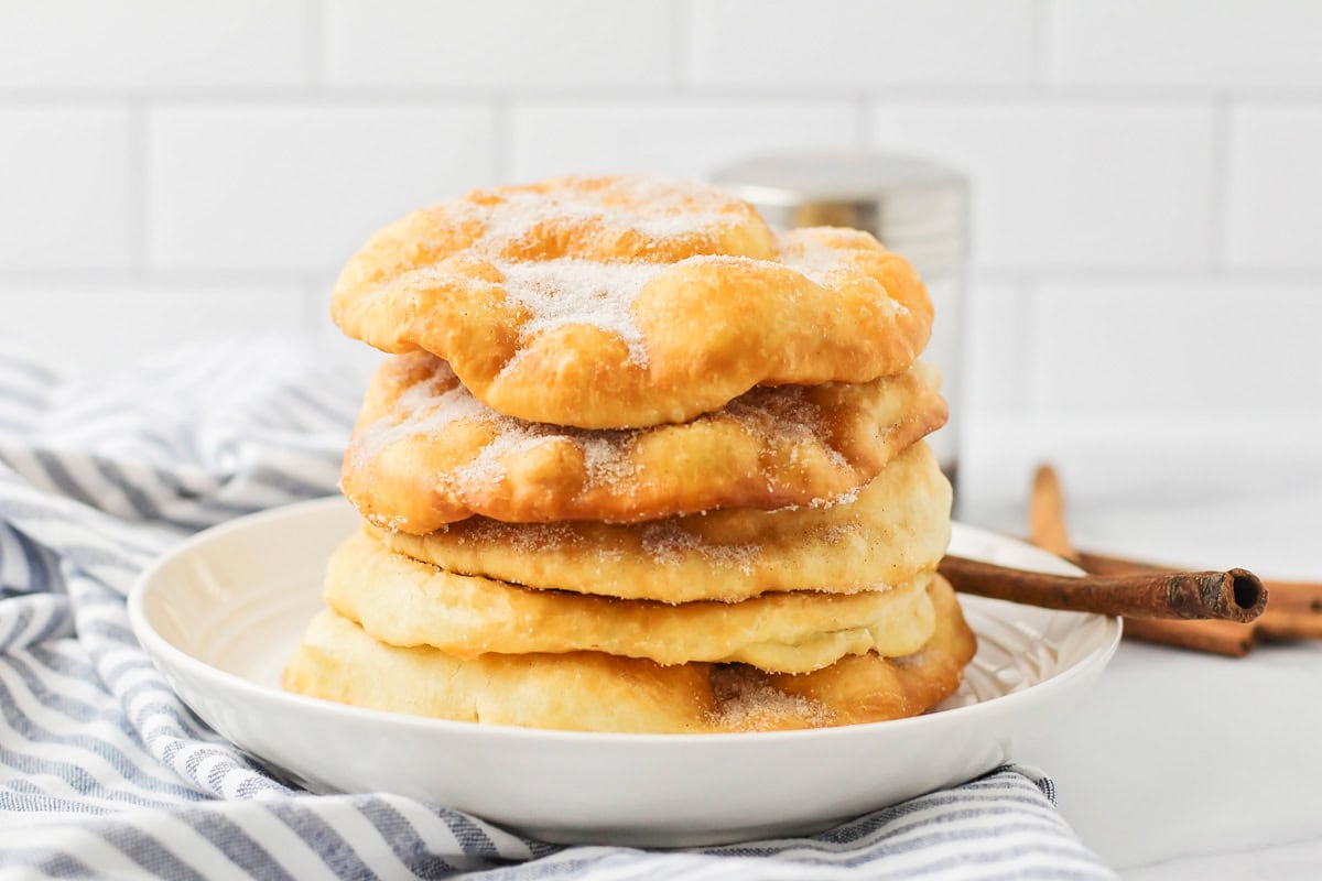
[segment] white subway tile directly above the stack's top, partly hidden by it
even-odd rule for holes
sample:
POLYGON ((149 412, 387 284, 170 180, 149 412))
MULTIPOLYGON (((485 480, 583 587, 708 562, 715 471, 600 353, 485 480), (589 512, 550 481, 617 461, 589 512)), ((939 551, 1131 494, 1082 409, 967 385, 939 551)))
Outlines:
POLYGON ((849 147, 845 102, 531 103, 510 115, 510 178, 646 172, 702 177, 751 153, 849 147))

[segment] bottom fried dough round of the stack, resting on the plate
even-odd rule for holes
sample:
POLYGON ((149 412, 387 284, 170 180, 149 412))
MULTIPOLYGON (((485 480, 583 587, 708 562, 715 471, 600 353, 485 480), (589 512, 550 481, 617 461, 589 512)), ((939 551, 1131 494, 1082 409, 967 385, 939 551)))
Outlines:
POLYGON ((932 639, 914 655, 845 658, 810 674, 652 660, 600 651, 460 659, 399 649, 325 610, 284 670, 290 691, 358 707, 494 725, 705 733, 817 728, 916 716, 958 688, 976 638, 936 577, 932 639))

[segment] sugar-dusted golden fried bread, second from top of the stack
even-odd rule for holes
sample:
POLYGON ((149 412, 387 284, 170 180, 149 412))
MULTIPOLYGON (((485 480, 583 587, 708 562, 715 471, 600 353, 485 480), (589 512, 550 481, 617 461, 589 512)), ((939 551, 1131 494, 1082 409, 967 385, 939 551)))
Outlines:
POLYGON ((369 522, 414 535, 473 514, 636 523, 821 505, 945 423, 937 383, 917 365, 863 384, 755 388, 682 425, 588 432, 502 416, 414 353, 373 376, 341 486, 369 522))

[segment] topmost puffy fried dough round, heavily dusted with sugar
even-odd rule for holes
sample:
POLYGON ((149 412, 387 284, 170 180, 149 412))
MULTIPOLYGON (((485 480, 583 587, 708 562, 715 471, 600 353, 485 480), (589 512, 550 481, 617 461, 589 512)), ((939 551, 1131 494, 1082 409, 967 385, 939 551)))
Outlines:
POLYGON ((754 386, 903 372, 932 304, 866 232, 775 236, 710 186, 566 177, 475 190, 377 232, 336 324, 453 365, 496 411, 579 428, 682 423, 754 386))

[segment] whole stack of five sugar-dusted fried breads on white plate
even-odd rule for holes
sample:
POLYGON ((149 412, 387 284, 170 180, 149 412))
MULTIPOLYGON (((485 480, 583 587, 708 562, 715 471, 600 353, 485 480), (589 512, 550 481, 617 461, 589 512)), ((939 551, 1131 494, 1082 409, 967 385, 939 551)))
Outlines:
POLYGON ((287 688, 699 733, 898 719, 958 687, 932 306, 870 235, 558 178, 382 230, 333 316, 391 354, 344 461, 362 530, 287 688))

